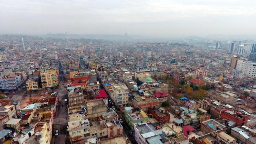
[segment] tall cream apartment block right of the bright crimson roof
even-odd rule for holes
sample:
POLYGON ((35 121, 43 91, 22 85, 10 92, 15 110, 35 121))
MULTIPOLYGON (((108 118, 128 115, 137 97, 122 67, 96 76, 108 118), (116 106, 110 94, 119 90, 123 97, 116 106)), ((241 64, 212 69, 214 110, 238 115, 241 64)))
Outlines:
POLYGON ((128 105, 128 94, 128 87, 125 84, 115 84, 113 85, 113 91, 110 93, 110 96, 119 108, 128 105))

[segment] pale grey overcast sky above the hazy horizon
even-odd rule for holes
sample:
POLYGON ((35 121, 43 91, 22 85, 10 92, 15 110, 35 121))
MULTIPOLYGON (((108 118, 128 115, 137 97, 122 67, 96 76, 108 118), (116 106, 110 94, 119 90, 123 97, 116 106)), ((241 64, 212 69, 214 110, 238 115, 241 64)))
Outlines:
POLYGON ((0 33, 256 34, 255 0, 0 0, 0 33))

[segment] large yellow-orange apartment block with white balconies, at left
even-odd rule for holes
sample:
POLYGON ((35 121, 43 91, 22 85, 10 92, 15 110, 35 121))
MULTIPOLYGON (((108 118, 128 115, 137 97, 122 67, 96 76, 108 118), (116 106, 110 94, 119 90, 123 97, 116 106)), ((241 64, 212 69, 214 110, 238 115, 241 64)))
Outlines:
POLYGON ((59 72, 58 70, 40 70, 41 82, 43 88, 57 87, 59 82, 59 72))

